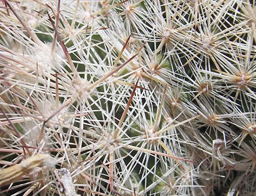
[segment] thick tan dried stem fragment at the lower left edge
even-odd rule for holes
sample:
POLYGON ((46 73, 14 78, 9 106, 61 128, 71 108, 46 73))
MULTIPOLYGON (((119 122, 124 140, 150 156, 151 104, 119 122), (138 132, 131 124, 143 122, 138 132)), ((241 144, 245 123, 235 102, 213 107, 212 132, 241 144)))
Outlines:
POLYGON ((0 187, 22 179, 23 175, 32 172, 36 167, 46 165, 52 159, 48 154, 37 154, 22 160, 17 165, 0 170, 0 187))

